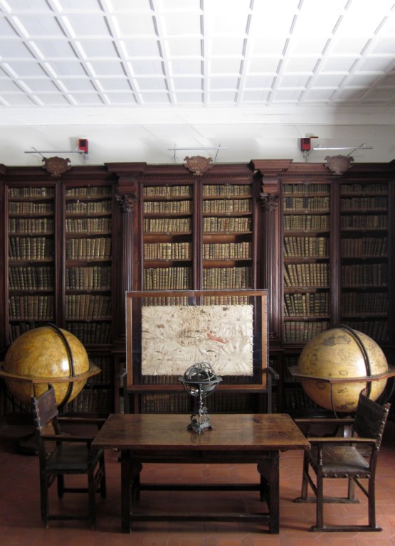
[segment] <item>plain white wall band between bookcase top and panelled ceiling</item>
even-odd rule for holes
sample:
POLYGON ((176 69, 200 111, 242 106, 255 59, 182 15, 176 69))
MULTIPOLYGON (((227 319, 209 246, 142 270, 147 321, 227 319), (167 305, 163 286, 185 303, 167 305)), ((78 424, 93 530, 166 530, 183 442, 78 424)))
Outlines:
MULTIPOLYGON (((6 110, 0 118, 0 164, 41 166, 43 156, 69 157, 72 165, 117 161, 182 163, 185 156, 217 163, 251 159, 306 161, 300 138, 312 145, 352 146, 356 162, 395 159, 395 112, 385 109, 36 109, 6 110), (88 156, 71 154, 87 138, 88 156), (215 148, 221 146, 220 150, 215 148), (172 149, 177 148, 177 151, 172 149), (65 153, 63 153, 65 152, 65 153), (69 153, 68 153, 69 152, 69 153)), ((312 151, 308 162, 349 150, 312 151)))

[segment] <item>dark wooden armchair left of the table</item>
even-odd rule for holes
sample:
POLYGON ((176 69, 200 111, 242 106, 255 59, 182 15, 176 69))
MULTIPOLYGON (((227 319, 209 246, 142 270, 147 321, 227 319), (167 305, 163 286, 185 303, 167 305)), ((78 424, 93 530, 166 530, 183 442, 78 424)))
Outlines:
POLYGON ((85 419, 58 416, 55 392, 51 385, 43 395, 31 398, 31 411, 36 427, 36 443, 40 464, 41 518, 49 526, 51 520, 88 519, 95 527, 95 493, 106 496, 105 456, 102 449, 91 449, 94 437, 62 434, 60 422, 88 424, 104 422, 105 419, 85 419), (88 486, 66 487, 66 474, 86 474, 88 486), (63 493, 88 493, 88 513, 51 514, 48 491, 54 481, 58 483, 58 498, 63 493))

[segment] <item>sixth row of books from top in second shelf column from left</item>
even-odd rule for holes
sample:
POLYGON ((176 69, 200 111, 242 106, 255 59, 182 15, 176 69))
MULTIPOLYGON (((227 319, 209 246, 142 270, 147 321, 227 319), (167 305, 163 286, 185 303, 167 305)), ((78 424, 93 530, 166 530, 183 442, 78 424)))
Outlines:
POLYGON ((111 298, 98 294, 67 294, 65 316, 68 320, 110 319, 111 298))

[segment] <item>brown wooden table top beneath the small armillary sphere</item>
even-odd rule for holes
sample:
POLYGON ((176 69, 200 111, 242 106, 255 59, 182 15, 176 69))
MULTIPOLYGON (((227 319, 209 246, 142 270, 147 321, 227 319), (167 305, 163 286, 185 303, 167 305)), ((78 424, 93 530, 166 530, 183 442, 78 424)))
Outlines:
POLYGON ((213 429, 187 429, 186 414, 110 414, 92 446, 106 449, 260 451, 310 449, 288 414, 211 415, 213 429))

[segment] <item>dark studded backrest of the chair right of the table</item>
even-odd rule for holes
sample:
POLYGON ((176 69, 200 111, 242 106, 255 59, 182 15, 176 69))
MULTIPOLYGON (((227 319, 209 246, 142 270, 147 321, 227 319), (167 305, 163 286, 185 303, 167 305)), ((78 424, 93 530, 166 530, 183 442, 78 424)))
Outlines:
POLYGON ((390 407, 391 404, 381 406, 361 392, 355 414, 354 434, 376 440, 376 449, 379 449, 390 407))

